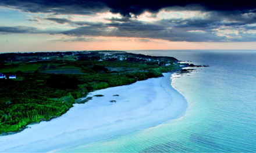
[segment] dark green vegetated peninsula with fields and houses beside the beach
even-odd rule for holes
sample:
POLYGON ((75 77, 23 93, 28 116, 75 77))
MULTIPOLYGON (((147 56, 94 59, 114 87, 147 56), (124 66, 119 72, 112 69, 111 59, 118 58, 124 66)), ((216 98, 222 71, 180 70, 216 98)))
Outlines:
POLYGON ((173 57, 108 50, 0 54, 0 133, 61 116, 93 99, 88 92, 162 77, 180 65, 173 57))

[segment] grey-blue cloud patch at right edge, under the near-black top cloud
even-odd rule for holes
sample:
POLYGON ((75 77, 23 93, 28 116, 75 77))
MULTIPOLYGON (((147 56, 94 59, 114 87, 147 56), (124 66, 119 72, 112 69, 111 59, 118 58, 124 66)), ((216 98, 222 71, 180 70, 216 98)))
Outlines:
POLYGON ((210 31, 223 26, 234 29, 243 27, 250 28, 248 24, 256 23, 255 13, 234 13, 232 15, 221 12, 207 12, 207 17, 193 17, 187 19, 162 19, 157 21, 161 24, 169 24, 170 27, 182 28, 184 31, 204 30, 210 31))

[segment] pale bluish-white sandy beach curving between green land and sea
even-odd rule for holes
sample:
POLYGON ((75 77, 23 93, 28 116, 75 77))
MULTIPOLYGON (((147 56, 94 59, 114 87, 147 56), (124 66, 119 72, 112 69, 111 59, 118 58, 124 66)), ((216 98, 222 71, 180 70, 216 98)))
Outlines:
POLYGON ((1 136, 0 152, 58 152, 175 119, 184 114, 187 101, 172 88, 171 74, 163 75, 91 92, 89 96, 103 94, 104 97, 74 104, 66 114, 50 122, 29 125, 30 128, 20 133, 1 136))

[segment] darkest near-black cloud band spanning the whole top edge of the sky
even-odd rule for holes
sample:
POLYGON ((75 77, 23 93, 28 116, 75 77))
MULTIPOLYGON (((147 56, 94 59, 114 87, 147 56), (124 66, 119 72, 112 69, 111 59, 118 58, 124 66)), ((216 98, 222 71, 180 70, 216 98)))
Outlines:
POLYGON ((256 1, 251 0, 1 0, 0 5, 31 13, 94 14, 110 10, 123 16, 130 16, 130 13, 138 15, 145 11, 156 13, 160 9, 173 6, 202 6, 204 10, 242 13, 255 12, 256 9, 256 1))

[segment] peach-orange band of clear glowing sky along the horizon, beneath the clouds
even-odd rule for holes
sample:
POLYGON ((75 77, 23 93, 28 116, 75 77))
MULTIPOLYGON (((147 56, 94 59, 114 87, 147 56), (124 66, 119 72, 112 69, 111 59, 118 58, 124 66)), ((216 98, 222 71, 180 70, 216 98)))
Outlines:
MULTIPOLYGON (((27 42, 17 39, 13 44, 6 43, 0 52, 51 52, 79 50, 178 50, 178 49, 240 49, 254 50, 255 42, 170 42, 161 39, 127 38, 127 37, 91 37, 87 41, 56 41, 58 35, 51 35, 51 41, 34 40, 30 37, 27 42)), ((42 38, 42 37, 41 37, 42 38)), ((45 35, 45 38, 49 38, 45 35)), ((73 37, 65 37, 72 39, 73 37)))

